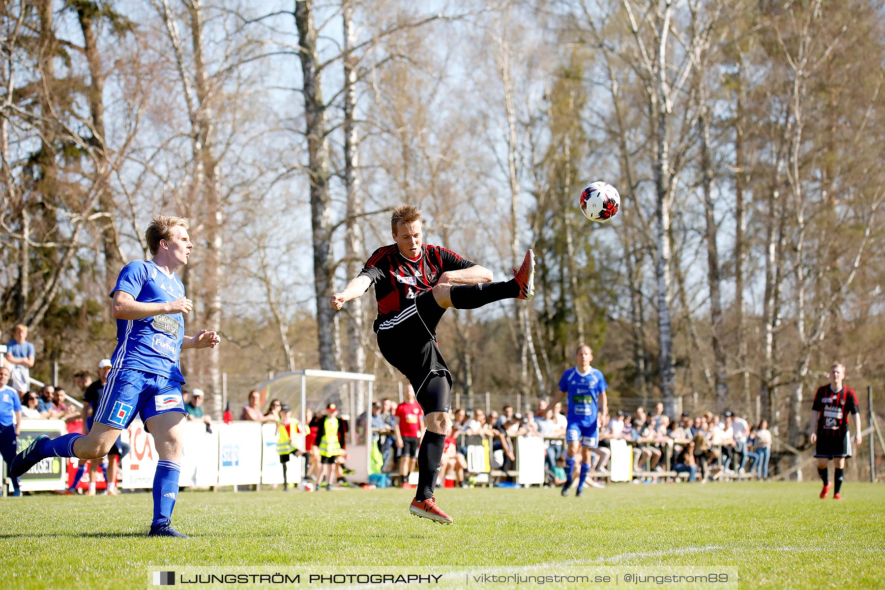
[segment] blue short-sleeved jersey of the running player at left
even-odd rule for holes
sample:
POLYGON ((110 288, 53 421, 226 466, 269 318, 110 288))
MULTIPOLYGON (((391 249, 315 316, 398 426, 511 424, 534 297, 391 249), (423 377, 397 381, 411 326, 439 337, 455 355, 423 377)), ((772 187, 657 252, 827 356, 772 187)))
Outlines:
MULTIPOLYGON (((184 296, 184 284, 174 272, 166 274, 153 262, 134 260, 119 272, 111 296, 116 291, 125 291, 140 303, 169 303, 184 296)), ((117 349, 111 357, 112 367, 137 369, 184 383, 179 366, 182 341, 182 313, 118 319, 117 349)))

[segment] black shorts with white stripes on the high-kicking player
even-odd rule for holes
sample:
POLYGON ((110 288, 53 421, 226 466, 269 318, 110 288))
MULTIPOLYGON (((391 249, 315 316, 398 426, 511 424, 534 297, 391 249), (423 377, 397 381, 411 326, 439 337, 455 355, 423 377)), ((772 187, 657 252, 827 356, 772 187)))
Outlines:
POLYGON ((449 411, 451 401, 451 373, 443 353, 436 344, 436 326, 445 310, 436 303, 432 291, 415 298, 415 304, 400 311, 394 318, 378 326, 378 349, 384 359, 403 373, 424 414, 449 411), (445 392, 434 388, 428 392, 427 381, 434 375, 445 377, 449 383, 445 392))

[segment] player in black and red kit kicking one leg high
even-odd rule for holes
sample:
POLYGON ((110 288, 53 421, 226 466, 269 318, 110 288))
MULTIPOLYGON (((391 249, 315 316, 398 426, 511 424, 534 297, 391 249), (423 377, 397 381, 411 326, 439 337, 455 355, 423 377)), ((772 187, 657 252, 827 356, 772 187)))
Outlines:
POLYGON ((358 277, 331 303, 345 302, 375 286, 378 318, 373 329, 378 349, 412 383, 427 431, 418 452, 418 489, 409 507, 412 514, 450 523, 436 506, 436 472, 443 458, 451 373, 436 345, 436 326, 450 307, 473 310, 502 299, 531 299, 535 295, 535 255, 528 250, 513 279, 491 282, 492 272, 451 250, 423 243, 421 213, 412 205, 397 207, 390 217, 396 243, 374 251, 358 277))

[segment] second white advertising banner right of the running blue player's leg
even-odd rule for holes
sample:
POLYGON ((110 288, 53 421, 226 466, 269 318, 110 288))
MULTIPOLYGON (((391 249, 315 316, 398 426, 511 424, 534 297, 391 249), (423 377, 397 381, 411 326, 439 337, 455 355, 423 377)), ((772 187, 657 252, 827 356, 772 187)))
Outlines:
MULTIPOLYGON (((215 426, 212 427, 215 430, 215 426)), ((261 483, 261 425, 258 422, 219 424, 219 486, 261 483)))

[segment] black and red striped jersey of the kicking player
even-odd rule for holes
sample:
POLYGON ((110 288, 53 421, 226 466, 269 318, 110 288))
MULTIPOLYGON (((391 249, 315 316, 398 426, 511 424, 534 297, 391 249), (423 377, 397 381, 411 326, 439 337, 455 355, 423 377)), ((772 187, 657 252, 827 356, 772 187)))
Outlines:
POLYGON ((417 260, 404 257, 396 244, 376 249, 359 272, 371 279, 375 286, 378 318, 375 318, 374 331, 378 332, 381 322, 413 305, 420 293, 435 287, 443 272, 460 271, 475 265, 449 249, 430 244, 421 246, 421 256, 417 260))

